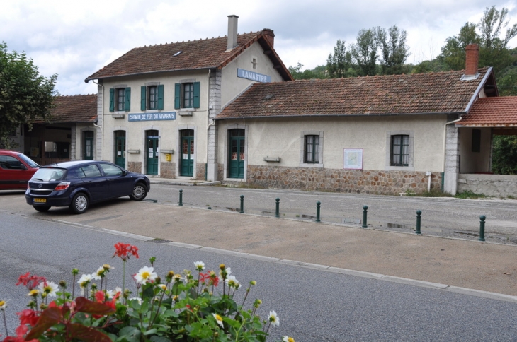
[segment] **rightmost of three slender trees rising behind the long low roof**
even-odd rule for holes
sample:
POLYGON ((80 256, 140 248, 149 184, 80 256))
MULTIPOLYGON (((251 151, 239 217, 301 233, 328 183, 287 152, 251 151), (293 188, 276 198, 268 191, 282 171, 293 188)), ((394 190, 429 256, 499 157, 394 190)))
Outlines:
POLYGON ((404 63, 409 56, 409 47, 406 46, 406 31, 399 30, 397 25, 388 29, 390 40, 387 40, 386 32, 382 28, 378 30, 377 39, 382 49, 382 75, 397 75, 407 70, 404 63))

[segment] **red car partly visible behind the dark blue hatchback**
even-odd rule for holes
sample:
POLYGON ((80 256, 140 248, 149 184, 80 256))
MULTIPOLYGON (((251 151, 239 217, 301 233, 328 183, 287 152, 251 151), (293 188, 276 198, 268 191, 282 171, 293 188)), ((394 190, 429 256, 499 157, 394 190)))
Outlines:
POLYGON ((40 165, 23 153, 0 150, 0 190, 26 190, 40 165))

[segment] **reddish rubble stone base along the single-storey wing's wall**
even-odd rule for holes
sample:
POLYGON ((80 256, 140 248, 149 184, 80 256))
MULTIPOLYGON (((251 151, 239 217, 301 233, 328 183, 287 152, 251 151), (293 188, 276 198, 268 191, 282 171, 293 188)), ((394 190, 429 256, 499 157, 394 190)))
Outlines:
MULTIPOLYGON (((261 165, 248 165, 247 172, 248 183, 277 189, 398 195, 406 191, 419 194, 428 187, 426 172, 261 165)), ((433 172, 431 189, 440 188, 441 172, 433 172)))

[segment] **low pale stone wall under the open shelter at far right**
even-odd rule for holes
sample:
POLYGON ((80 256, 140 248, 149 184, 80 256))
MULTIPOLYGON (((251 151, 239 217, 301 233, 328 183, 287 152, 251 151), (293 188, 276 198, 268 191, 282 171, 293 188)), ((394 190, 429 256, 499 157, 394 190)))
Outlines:
POLYGON ((497 197, 517 197, 517 176, 458 175, 458 191, 497 197))

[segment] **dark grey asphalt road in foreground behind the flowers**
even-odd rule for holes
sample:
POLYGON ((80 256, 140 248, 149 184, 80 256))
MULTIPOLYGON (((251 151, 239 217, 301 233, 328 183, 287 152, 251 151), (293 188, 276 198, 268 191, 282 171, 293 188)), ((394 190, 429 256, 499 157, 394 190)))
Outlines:
MULTIPOLYGON (((32 208, 27 206, 27 212, 32 208)), ((204 261, 208 269, 227 264, 242 283, 256 280, 251 298, 263 300, 259 314, 274 309, 280 317, 270 341, 283 335, 297 342, 516 340, 517 305, 511 302, 144 242, 28 213, 0 208, 0 300, 8 300, 11 333, 14 312, 27 302, 25 288, 14 285, 19 275, 30 271, 70 282, 73 267, 91 273, 109 263, 115 266, 110 286, 120 285, 121 261, 111 259, 113 244, 120 241, 140 249, 140 259, 127 265, 130 272, 156 256, 159 274, 193 269, 194 261, 204 261)))

